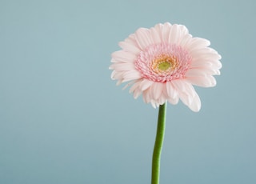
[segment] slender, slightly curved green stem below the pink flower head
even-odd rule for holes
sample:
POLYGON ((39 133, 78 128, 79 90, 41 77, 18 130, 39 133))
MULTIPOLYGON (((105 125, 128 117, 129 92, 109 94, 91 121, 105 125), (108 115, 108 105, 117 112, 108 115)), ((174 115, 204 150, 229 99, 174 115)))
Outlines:
POLYGON ((159 106, 158 112, 158 130, 154 142, 154 152, 152 158, 152 176, 151 184, 159 184, 160 177, 160 160, 162 152, 162 142, 165 135, 166 126, 166 103, 159 106))

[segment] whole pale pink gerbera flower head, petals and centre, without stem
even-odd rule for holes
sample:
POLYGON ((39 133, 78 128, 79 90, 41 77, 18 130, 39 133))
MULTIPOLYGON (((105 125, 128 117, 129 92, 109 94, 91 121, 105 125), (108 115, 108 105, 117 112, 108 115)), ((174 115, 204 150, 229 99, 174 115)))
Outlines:
POLYGON ((139 28, 119 46, 122 50, 112 54, 111 78, 118 85, 128 82, 134 98, 142 94, 154 107, 181 99, 191 110, 200 110, 193 85, 215 86, 213 75, 222 67, 221 56, 208 47, 208 40, 193 38, 186 26, 169 22, 139 28))

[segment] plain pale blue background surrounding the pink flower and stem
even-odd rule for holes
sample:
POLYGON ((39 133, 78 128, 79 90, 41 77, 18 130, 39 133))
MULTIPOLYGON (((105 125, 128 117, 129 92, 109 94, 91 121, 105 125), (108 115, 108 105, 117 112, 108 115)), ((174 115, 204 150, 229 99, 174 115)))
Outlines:
POLYGON ((115 86, 118 42, 184 24, 222 54, 202 110, 168 105, 161 184, 256 183, 256 2, 0 2, 0 183, 150 183, 158 110, 115 86))

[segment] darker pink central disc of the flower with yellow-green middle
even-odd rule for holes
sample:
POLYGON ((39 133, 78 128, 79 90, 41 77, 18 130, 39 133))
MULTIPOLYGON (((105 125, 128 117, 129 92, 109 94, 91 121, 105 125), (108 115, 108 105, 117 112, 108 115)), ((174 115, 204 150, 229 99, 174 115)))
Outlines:
POLYGON ((138 54, 135 68, 147 78, 155 82, 167 82, 184 78, 191 62, 191 56, 181 46, 166 42, 148 46, 138 54))

